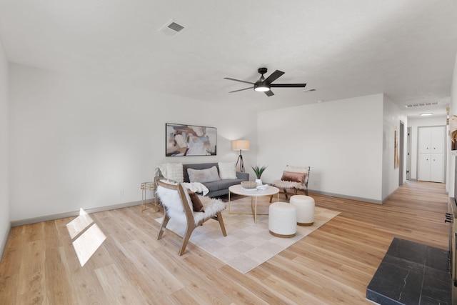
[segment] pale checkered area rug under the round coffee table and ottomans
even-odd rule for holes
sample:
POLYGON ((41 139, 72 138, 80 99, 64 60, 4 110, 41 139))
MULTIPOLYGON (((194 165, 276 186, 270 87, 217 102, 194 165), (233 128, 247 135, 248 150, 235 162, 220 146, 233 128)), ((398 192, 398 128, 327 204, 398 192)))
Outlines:
MULTIPOLYGON (((257 214, 268 214, 269 197, 259 197, 257 202, 257 214)), ((251 213, 251 199, 242 198, 231 201, 231 213, 251 213)), ((257 223, 254 224, 253 216, 229 214, 229 206, 222 212, 227 236, 222 235, 219 222, 209 220, 203 226, 199 226, 191 235, 186 251, 192 251, 192 244, 201 247, 209 254, 224 263, 232 266, 243 274, 263 264, 279 252, 287 249, 292 244, 312 231, 318 229, 327 221, 333 219, 339 212, 322 209, 316 206, 314 211, 313 226, 297 226, 296 236, 282 239, 271 235, 268 231, 268 215, 257 215, 257 223)), ((163 218, 156 219, 160 224, 163 218)), ((172 219, 166 226, 167 230, 174 231, 180 236, 184 235, 185 225, 179 224, 172 219)), ((164 232, 162 238, 170 238, 164 232)))

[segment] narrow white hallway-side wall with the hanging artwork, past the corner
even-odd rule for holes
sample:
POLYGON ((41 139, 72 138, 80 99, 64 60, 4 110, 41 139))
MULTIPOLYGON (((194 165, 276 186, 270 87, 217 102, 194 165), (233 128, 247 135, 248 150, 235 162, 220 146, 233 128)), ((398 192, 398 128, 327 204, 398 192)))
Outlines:
MULTIPOLYGON (((407 116, 404 111, 401 111, 396 104, 388 98, 383 96, 383 184, 382 184, 382 199, 386 200, 396 189, 398 189, 400 167, 395 168, 394 159, 394 144, 395 144, 395 130, 398 131, 398 144, 400 144, 400 121, 404 124, 403 139, 404 150, 403 156, 403 180, 406 179, 406 126, 407 116)), ((399 149, 399 148, 398 148, 399 149)), ((400 151, 398 151, 400 154, 400 151)))

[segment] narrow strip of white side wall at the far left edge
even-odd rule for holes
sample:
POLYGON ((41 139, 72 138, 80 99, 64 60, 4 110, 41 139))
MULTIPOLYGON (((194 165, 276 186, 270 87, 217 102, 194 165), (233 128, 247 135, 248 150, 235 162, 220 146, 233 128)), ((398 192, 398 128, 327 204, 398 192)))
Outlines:
POLYGON ((0 41, 0 258, 9 233, 8 59, 0 41))

